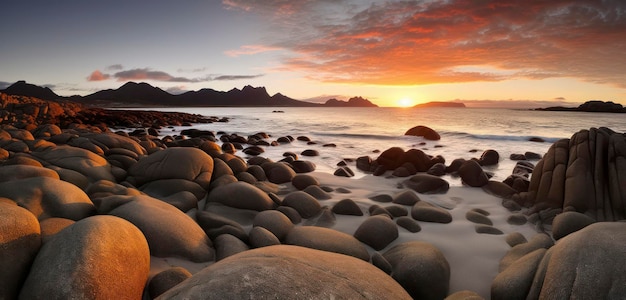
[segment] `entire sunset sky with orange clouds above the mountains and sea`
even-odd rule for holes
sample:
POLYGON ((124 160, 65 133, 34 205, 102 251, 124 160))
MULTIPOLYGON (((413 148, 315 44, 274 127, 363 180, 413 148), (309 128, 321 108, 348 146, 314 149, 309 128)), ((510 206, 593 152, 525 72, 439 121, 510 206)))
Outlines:
POLYGON ((380 106, 626 105, 626 1, 9 1, 0 89, 264 86, 380 106))

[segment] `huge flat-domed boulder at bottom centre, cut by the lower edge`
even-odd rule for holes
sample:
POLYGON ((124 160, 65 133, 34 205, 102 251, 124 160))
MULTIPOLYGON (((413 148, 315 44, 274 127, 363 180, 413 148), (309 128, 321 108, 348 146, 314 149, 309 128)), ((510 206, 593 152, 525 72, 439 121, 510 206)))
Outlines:
POLYGON ((270 246, 217 262, 161 299, 411 299, 375 266, 297 246, 270 246), (350 288, 346 288, 346 286, 350 288))

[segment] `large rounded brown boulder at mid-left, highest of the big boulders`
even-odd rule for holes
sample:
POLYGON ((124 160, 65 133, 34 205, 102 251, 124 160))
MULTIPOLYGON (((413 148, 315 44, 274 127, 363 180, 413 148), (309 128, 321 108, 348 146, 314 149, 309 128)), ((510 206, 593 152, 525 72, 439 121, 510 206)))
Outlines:
POLYGON ((186 179, 209 188, 213 158, 191 147, 175 147, 144 156, 128 169, 129 181, 141 186, 159 179, 186 179))

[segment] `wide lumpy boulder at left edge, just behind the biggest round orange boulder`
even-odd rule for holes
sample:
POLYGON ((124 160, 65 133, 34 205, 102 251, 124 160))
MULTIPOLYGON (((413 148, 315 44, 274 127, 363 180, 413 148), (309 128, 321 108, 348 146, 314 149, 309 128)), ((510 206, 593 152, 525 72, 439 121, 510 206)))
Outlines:
POLYGON ((52 217, 77 221, 96 213, 96 207, 85 192, 73 184, 50 177, 0 183, 0 197, 14 200, 40 221, 52 217))

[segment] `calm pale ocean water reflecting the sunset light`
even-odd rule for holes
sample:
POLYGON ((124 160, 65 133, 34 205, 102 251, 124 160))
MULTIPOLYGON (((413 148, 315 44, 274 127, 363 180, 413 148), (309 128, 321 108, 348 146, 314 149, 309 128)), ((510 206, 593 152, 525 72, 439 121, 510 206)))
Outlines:
MULTIPOLYGON (((550 112, 485 108, 300 108, 300 107, 200 107, 160 108, 205 116, 228 117, 227 123, 197 124, 193 128, 237 133, 248 136, 265 132, 275 140, 281 136, 306 136, 316 144, 295 140, 291 144, 266 147, 262 156, 278 161, 286 151, 300 154, 306 149, 317 150, 317 157, 303 157, 317 165, 317 171, 332 173, 345 158, 370 156, 373 159, 390 147, 404 150, 420 149, 428 155, 441 155, 449 164, 456 158, 479 158, 483 151, 493 149, 500 154, 497 166, 486 167, 493 180, 502 181, 511 174, 515 161, 513 153, 527 151, 544 154, 555 141, 569 138, 581 129, 608 127, 626 132, 622 114, 550 112), (275 112, 275 111, 281 112, 275 112), (417 125, 430 127, 441 135, 439 141, 405 136, 417 125), (529 141, 540 138, 545 142, 529 141), (334 144, 336 147, 323 147, 334 144)), ((162 135, 177 135, 187 127, 163 128, 162 135)), ((245 157, 245 154, 238 152, 245 157)), ((534 161, 536 163, 536 161, 534 161)), ((365 176, 349 165, 356 178, 365 176)), ((446 176, 453 186, 460 179, 446 176)))

